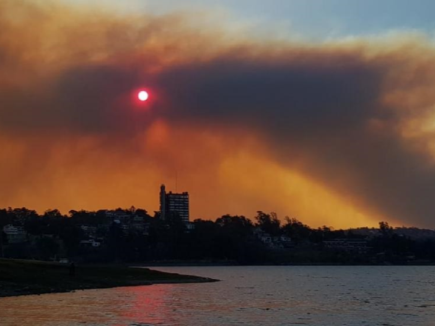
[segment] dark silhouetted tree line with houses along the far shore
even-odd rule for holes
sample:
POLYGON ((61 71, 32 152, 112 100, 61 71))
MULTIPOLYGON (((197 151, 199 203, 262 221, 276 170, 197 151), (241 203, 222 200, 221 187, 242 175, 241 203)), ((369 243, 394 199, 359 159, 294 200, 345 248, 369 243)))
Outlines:
POLYGON ((0 210, 2 256, 58 259, 89 263, 157 262, 167 260, 237 264, 383 264, 432 263, 435 239, 411 239, 380 222, 373 236, 352 230, 311 228, 297 218, 281 221, 276 213, 258 211, 252 218, 224 215, 189 223, 176 215, 161 220, 144 209, 106 211, 59 210, 38 214, 27 208, 0 210), (8 241, 3 226, 20 226, 27 234, 19 243, 8 241), (84 227, 85 226, 85 227, 84 227), (90 236, 88 230, 92 230, 90 236), (84 246, 92 237, 98 246, 84 246), (363 251, 329 248, 329 240, 360 240, 363 251), (85 241, 84 241, 85 240, 85 241), (276 244, 274 246, 273 244, 276 244))

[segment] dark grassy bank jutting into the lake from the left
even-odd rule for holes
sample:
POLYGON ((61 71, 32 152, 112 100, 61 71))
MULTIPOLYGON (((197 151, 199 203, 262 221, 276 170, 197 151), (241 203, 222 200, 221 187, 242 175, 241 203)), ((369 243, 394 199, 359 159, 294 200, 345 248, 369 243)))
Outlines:
POLYGON ((69 266, 65 264, 0 259, 0 297, 70 292, 77 289, 98 289, 116 286, 215 281, 214 279, 199 276, 115 265, 78 265, 74 274, 74 276, 69 275, 69 266))

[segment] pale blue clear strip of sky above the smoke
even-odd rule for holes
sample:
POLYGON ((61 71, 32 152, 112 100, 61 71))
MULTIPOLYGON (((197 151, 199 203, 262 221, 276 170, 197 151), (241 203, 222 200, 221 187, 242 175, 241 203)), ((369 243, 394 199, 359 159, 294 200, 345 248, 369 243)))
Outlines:
MULTIPOLYGON (((73 3, 86 0, 65 0, 73 3)), ((419 30, 433 35, 432 0, 97 0, 126 12, 226 13, 228 20, 322 41, 330 38, 419 30)))

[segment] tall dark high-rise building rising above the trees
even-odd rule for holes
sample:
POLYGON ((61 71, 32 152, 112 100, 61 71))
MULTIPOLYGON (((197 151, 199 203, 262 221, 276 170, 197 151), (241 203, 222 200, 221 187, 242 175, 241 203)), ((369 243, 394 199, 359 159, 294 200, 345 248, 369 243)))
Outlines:
POLYGON ((160 186, 160 217, 167 220, 177 215, 183 222, 189 222, 189 193, 166 192, 165 185, 160 186))

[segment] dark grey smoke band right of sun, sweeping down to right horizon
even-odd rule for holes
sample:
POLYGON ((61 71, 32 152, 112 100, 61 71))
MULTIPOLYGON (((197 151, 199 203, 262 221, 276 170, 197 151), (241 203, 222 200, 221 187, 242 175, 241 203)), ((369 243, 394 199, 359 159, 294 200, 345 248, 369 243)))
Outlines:
POLYGON ((355 53, 320 48, 294 57, 289 49, 267 60, 190 63, 164 72, 160 83, 171 119, 248 125, 282 164, 384 216, 431 226, 435 166, 398 133, 400 111, 381 102, 391 69, 355 53))

